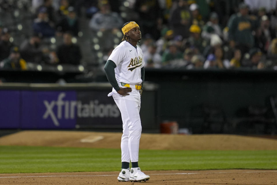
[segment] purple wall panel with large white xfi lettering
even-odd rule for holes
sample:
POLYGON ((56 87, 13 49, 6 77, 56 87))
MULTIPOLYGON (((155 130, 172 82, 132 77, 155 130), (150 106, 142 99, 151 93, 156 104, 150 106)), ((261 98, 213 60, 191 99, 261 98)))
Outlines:
POLYGON ((71 101, 76 101, 75 91, 22 91, 22 128, 75 128, 71 101))

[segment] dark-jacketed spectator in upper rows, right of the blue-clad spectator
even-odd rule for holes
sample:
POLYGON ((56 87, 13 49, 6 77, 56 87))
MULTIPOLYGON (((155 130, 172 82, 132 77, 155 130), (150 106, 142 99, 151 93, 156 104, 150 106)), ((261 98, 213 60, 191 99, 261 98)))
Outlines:
POLYGON ((64 33, 71 31, 74 36, 78 36, 79 32, 79 21, 74 10, 74 7, 70 6, 68 8, 68 14, 59 21, 56 25, 57 31, 64 33))

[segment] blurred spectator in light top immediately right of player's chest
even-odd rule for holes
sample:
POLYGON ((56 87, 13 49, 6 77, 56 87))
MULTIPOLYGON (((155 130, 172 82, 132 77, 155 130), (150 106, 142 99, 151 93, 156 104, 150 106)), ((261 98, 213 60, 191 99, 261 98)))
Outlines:
POLYGON ((143 58, 145 61, 145 67, 149 68, 160 68, 162 56, 156 52, 157 46, 154 42, 149 44, 147 51, 143 53, 143 58))

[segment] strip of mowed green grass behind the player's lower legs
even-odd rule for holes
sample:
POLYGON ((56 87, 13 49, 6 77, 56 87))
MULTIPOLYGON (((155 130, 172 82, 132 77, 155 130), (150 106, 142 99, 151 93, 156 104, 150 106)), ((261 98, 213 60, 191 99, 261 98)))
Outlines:
MULTIPOLYGON (((143 170, 277 169, 277 150, 140 150, 143 170)), ((0 173, 120 171, 120 149, 0 146, 0 173)))

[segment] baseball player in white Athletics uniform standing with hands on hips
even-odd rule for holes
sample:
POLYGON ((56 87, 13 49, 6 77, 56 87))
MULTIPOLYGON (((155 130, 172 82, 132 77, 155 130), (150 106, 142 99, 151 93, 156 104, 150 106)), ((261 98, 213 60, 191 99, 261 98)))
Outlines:
POLYGON ((146 181, 149 176, 139 168, 139 140, 141 138, 141 94, 144 82, 144 60, 140 47, 139 25, 127 22, 122 27, 122 42, 113 50, 105 64, 108 81, 113 86, 108 96, 113 99, 121 112, 123 134, 121 137, 121 172, 119 181, 146 181), (129 169, 130 160, 132 168, 129 169))

